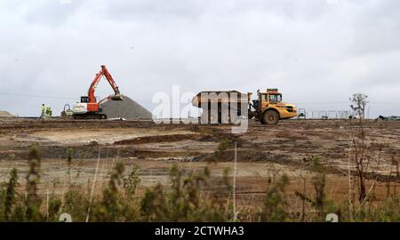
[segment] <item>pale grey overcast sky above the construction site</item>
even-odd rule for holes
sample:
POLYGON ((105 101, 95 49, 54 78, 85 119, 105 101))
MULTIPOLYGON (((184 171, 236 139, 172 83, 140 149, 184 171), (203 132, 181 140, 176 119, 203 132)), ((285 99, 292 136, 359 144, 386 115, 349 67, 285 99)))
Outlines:
MULTIPOLYGON (((400 115, 398 0, 0 0, 0 109, 59 114, 100 65, 152 110, 155 92, 279 88, 309 110, 400 115)), ((111 93, 106 81, 97 95, 111 93)))

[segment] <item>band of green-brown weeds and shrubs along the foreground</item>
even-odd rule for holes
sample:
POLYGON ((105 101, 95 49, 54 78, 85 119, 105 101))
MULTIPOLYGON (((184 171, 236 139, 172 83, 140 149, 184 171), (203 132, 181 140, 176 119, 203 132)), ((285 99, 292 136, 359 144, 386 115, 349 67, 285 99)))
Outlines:
MULTIPOLYGON (((224 146, 222 146, 224 147, 224 146)), ((222 149, 222 148, 221 148, 222 149)), ((310 165, 313 192, 289 193, 291 179, 282 175, 268 180, 260 208, 233 207, 232 176, 226 169, 222 177, 212 177, 208 168, 202 172, 185 173, 173 164, 169 184, 156 185, 138 194, 140 169, 116 162, 109 174, 108 184, 92 196, 91 182, 76 184, 68 180, 68 188, 56 194, 60 180, 45 186, 39 194, 41 150, 32 146, 25 186, 20 185, 17 169, 12 169, 0 187, 0 221, 58 221, 61 213, 73 221, 324 221, 326 214, 336 213, 340 221, 400 221, 400 201, 391 195, 380 204, 348 205, 348 201, 333 204, 325 194, 326 177, 319 157, 310 165), (211 184, 212 182, 212 184, 211 184), (216 187, 217 186, 217 187, 216 187), (289 199, 298 199, 302 209, 296 209, 289 199)), ((68 175, 72 158, 68 155, 68 175)))

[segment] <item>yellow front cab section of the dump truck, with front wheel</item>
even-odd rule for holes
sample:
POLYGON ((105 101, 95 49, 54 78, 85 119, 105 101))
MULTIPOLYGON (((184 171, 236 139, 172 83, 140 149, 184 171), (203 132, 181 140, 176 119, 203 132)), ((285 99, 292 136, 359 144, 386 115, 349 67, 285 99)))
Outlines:
POLYGON ((297 108, 292 104, 284 103, 282 94, 277 89, 267 89, 266 92, 257 91, 258 100, 252 101, 253 116, 261 124, 277 124, 280 119, 289 119, 297 116, 297 108))

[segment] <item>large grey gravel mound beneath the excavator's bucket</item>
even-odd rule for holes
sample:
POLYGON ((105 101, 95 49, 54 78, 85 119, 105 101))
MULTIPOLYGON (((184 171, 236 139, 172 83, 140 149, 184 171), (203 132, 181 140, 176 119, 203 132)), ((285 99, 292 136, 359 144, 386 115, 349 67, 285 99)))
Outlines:
POLYGON ((101 104, 103 114, 109 118, 124 118, 126 120, 151 119, 148 109, 140 106, 136 101, 124 96, 124 100, 108 100, 101 104))

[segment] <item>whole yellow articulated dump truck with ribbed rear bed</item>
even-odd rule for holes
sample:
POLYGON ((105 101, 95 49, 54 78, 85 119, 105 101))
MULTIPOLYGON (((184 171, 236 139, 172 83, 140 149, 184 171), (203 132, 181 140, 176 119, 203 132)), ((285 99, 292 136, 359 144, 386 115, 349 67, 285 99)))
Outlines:
POLYGON ((294 105, 282 101, 282 94, 277 89, 258 91, 257 97, 252 100, 252 92, 207 91, 199 92, 192 105, 203 109, 203 124, 235 124, 240 117, 255 119, 261 124, 277 124, 281 119, 298 115, 294 105))

